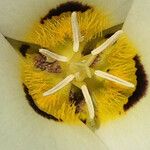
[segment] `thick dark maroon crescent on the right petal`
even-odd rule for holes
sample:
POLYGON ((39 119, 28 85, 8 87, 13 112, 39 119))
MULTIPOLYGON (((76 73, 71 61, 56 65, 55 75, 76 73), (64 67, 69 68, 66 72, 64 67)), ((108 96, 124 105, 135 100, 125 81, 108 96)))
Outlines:
POLYGON ((147 75, 145 73, 143 65, 141 64, 139 56, 135 56, 134 61, 135 67, 137 68, 137 86, 132 96, 129 97, 127 104, 124 105, 124 110, 128 110, 130 107, 136 104, 142 97, 144 97, 148 88, 147 75))

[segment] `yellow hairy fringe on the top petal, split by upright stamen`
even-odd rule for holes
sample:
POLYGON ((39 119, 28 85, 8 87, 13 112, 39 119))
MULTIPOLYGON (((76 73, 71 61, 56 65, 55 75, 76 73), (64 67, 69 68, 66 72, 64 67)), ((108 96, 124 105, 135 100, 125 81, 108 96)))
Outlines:
MULTIPOLYGON (((43 47, 55 50, 58 45, 66 45, 72 40, 71 12, 63 13, 60 16, 52 17, 43 24, 35 24, 27 40, 43 47)), ((110 26, 107 17, 98 10, 88 10, 85 13, 77 13, 81 35, 84 41, 90 40, 110 26), (99 31, 99 33, 98 33, 99 31)), ((72 50, 72 49, 71 49, 72 50)))

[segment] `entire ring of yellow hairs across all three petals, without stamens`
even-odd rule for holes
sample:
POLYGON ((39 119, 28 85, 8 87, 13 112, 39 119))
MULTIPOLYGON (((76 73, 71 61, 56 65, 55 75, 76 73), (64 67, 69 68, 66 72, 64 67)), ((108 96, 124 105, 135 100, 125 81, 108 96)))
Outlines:
MULTIPOLYGON (((63 13, 52 17, 44 24, 36 24, 27 36, 27 40, 52 51, 72 55, 72 30, 70 23, 71 13, 63 13)), ((103 12, 99 10, 88 10, 84 13, 78 12, 78 21, 84 42, 81 47, 93 37, 100 37, 100 32, 110 26, 103 12)), ((97 45, 98 46, 98 45, 97 45)), ((99 63, 94 67, 107 71, 126 81, 136 85, 136 68, 133 61, 136 50, 123 35, 115 45, 107 48, 100 55, 99 63)), ((69 101, 71 85, 65 86, 55 94, 44 97, 42 94, 64 79, 67 71, 63 66, 62 73, 47 73, 35 68, 33 55, 27 54, 22 60, 22 80, 29 89, 35 104, 44 112, 68 123, 79 123, 80 119, 88 118, 87 107, 83 105, 83 111, 75 113, 76 106, 69 101)), ((124 113, 123 105, 127 103, 128 97, 135 89, 130 89, 116 83, 94 78, 87 81, 88 88, 92 91, 95 100, 97 120, 101 123, 115 119, 124 113)))

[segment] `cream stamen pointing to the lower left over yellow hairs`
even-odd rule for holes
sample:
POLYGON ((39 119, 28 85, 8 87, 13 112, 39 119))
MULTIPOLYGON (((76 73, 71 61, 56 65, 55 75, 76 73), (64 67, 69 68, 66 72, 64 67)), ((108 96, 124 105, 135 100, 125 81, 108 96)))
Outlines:
POLYGON ((47 92, 43 93, 43 96, 48 96, 48 95, 51 95, 51 94, 57 92, 58 90, 62 89, 64 86, 69 84, 74 78, 75 78, 75 76, 73 74, 67 76, 64 80, 60 81, 53 88, 51 88, 47 92))

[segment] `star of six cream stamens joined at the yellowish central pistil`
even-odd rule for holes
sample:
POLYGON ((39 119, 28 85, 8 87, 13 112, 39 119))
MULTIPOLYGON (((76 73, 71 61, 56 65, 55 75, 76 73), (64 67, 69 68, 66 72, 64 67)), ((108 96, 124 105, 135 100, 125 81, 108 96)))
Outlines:
POLYGON ((116 76, 113 76, 101 70, 92 71, 92 68, 90 68, 91 64, 94 62, 97 55, 100 54, 102 51, 104 51, 107 47, 113 45, 118 40, 120 34, 122 34, 123 31, 122 30, 117 31, 102 45, 92 50, 91 54, 82 56, 80 51, 80 42, 84 39, 84 37, 82 37, 80 33, 76 12, 73 12, 71 14, 71 25, 73 33, 73 51, 74 51, 74 54, 71 59, 50 52, 49 50, 46 49, 39 50, 39 52, 45 54, 46 57, 51 57, 58 61, 65 62, 69 66, 66 72, 67 76, 53 88, 43 93, 43 96, 51 95, 72 82, 72 84, 74 84, 75 86, 79 87, 82 90, 89 111, 89 120, 90 122, 91 121, 93 122, 95 117, 94 100, 92 99, 90 91, 88 90, 86 82, 84 81, 86 78, 91 78, 93 75, 95 75, 122 84, 124 86, 134 88, 134 84, 130 82, 127 82, 123 79, 120 79, 116 76))

